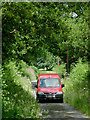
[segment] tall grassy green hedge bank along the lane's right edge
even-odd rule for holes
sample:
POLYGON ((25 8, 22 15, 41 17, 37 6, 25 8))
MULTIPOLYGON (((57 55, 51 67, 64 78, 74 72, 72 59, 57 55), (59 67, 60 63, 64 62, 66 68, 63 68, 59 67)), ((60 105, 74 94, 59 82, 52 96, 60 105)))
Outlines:
POLYGON ((64 99, 88 115, 88 63, 79 59, 64 81, 64 99))

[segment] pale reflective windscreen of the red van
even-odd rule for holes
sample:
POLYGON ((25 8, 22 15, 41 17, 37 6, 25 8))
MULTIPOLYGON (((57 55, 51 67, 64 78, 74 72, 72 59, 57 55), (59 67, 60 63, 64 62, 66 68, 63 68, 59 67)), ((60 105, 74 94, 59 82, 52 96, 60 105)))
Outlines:
POLYGON ((39 87, 60 87, 58 78, 43 78, 40 79, 39 87))

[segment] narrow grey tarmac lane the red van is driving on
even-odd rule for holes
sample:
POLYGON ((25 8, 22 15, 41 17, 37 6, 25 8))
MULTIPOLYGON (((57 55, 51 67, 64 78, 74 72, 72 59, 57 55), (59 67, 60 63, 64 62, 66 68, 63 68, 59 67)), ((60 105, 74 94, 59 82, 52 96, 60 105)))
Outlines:
MULTIPOLYGON (((32 88, 32 94, 36 99, 36 88, 32 88)), ((89 118, 82 114, 80 111, 75 110, 72 106, 67 103, 56 103, 54 101, 48 101, 39 103, 42 112, 42 119, 62 119, 67 118, 67 120, 89 120, 89 118)))

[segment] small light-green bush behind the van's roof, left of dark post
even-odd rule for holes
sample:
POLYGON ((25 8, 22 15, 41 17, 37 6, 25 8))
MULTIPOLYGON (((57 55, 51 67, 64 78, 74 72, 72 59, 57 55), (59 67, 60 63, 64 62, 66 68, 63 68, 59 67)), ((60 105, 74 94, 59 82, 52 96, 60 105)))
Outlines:
POLYGON ((55 66, 53 71, 56 72, 60 78, 64 77, 66 74, 66 65, 64 63, 60 64, 59 66, 55 66))

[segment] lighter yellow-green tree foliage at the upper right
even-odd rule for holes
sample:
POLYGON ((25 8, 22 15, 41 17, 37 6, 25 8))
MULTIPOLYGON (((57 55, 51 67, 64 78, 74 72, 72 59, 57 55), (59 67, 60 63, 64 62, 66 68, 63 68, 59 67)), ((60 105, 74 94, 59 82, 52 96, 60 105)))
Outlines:
MULTIPOLYGON (((85 4, 74 5, 73 8, 76 8, 76 13, 81 9, 79 6, 84 10, 85 4)), ((88 7, 86 9, 88 9, 88 7)), ((82 13, 77 15, 78 17, 68 17, 67 19, 64 17, 62 18, 63 21, 65 20, 65 24, 69 30, 65 44, 68 46, 70 61, 78 59, 79 57, 87 56, 88 53, 88 23, 82 13)))

